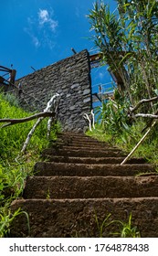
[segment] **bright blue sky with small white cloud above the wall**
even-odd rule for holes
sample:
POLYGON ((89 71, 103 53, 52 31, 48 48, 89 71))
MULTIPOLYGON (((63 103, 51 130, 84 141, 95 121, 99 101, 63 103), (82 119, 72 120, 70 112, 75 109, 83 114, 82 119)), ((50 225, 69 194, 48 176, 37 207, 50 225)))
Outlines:
MULTIPOLYGON (((93 0, 1 0, 0 65, 13 64, 16 79, 41 69, 94 44, 86 15, 93 0)), ((114 0, 105 0, 114 10, 114 0)), ((92 71, 95 82, 109 81, 107 71, 92 71)))

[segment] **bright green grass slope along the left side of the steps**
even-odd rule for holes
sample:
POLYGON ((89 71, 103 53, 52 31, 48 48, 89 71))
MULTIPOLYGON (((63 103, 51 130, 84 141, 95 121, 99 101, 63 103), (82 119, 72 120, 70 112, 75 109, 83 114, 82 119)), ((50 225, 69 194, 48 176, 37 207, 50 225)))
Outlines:
MULTIPOLYGON (((0 119, 24 118, 29 115, 32 113, 20 108, 14 95, 0 93, 0 119)), ((33 134, 26 148, 26 155, 19 155, 26 136, 36 121, 0 128, 0 237, 9 235, 10 224, 17 215, 26 214, 20 209, 11 213, 10 204, 14 199, 21 197, 26 176, 34 175, 33 166, 42 150, 49 144, 45 119, 33 134)), ((0 126, 3 124, 0 123, 0 126)), ((59 129, 58 123, 53 126, 50 139, 57 138, 59 129)))

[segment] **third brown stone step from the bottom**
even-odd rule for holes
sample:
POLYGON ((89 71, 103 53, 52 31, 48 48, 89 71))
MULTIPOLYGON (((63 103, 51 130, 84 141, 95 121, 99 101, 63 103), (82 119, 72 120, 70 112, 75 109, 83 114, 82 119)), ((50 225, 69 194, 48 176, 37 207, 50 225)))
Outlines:
POLYGON ((34 167, 36 176, 136 176, 153 173, 155 167, 149 164, 77 164, 37 162, 34 167))

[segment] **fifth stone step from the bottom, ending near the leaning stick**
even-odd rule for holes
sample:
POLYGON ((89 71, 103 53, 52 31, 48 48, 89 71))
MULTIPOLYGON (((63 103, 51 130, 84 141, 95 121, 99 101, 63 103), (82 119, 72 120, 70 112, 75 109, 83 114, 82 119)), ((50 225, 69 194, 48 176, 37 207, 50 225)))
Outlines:
POLYGON ((47 157, 47 155, 64 155, 64 156, 78 156, 78 157, 121 157, 126 156, 124 153, 121 153, 119 150, 91 150, 91 149, 62 149, 62 148, 47 148, 43 151, 42 156, 47 157))

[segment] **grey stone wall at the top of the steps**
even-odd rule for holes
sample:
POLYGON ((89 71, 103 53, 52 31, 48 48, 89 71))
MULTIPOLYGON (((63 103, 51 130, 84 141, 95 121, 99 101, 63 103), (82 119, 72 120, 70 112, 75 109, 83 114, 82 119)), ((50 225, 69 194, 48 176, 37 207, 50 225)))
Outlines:
POLYGON ((47 101, 56 92, 60 94, 58 120, 64 131, 82 132, 86 126, 83 118, 91 110, 90 59, 83 50, 46 68, 16 80, 21 82, 22 106, 30 111, 43 111, 47 101))

